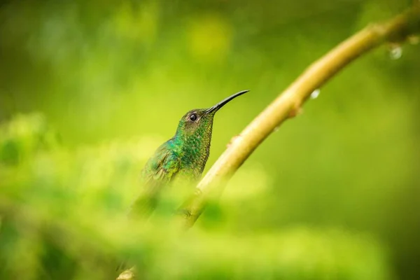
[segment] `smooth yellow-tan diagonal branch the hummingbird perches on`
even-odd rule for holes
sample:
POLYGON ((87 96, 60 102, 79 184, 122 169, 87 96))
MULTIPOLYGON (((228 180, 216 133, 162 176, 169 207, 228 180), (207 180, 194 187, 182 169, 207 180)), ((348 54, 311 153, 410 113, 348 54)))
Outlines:
POLYGON ((265 138, 288 118, 296 116, 311 92, 324 85, 335 73, 353 60, 386 41, 405 41, 409 34, 420 30, 420 4, 414 4, 392 20, 374 24, 340 43, 326 55, 311 64, 272 104, 260 113, 200 181, 195 195, 183 204, 183 224, 194 225, 213 195, 221 193, 225 181, 235 174, 249 155, 265 138))

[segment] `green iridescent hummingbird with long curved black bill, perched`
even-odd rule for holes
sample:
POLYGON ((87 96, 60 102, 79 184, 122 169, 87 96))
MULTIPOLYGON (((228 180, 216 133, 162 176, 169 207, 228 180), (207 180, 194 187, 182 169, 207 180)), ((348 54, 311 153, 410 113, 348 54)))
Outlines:
POLYGON ((143 192, 134 201, 129 216, 147 218, 158 205, 162 189, 175 178, 200 179, 210 153, 211 132, 216 112, 243 90, 208 109, 188 111, 179 120, 174 137, 162 144, 141 171, 143 192))

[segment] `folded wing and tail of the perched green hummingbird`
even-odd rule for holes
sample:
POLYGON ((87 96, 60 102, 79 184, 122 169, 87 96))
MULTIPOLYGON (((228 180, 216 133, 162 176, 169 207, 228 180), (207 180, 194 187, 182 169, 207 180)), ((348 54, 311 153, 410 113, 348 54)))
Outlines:
POLYGON ((174 153, 158 148, 141 172, 144 189, 132 205, 130 216, 147 218, 155 209, 162 188, 179 172, 180 161, 174 153))

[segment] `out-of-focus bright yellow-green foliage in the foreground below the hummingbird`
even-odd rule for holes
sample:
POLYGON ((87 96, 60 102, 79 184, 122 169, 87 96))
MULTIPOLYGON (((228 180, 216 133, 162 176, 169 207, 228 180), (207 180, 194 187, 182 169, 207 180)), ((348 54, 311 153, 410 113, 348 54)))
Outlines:
POLYGON ((1 279, 112 279, 123 255, 147 279, 389 279, 386 252, 372 237, 308 226, 237 235, 219 228, 231 223, 221 219, 228 206, 212 204, 204 228, 182 235, 172 215, 149 228, 127 225, 150 141, 70 153, 55 141, 38 145, 52 133, 44 127, 38 115, 2 127, 1 279), (16 146, 18 166, 4 156, 10 141, 26 143, 16 146))

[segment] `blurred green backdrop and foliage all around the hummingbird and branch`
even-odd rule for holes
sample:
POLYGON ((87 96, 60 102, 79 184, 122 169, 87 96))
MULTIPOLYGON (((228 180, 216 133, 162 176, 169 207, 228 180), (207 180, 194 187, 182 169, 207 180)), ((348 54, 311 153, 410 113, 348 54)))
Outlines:
POLYGON ((417 279, 419 44, 346 67, 188 234, 124 223, 186 111, 251 90, 216 115, 209 169, 311 62, 411 2, 2 1, 0 279, 113 279, 127 254, 144 279, 417 279))

